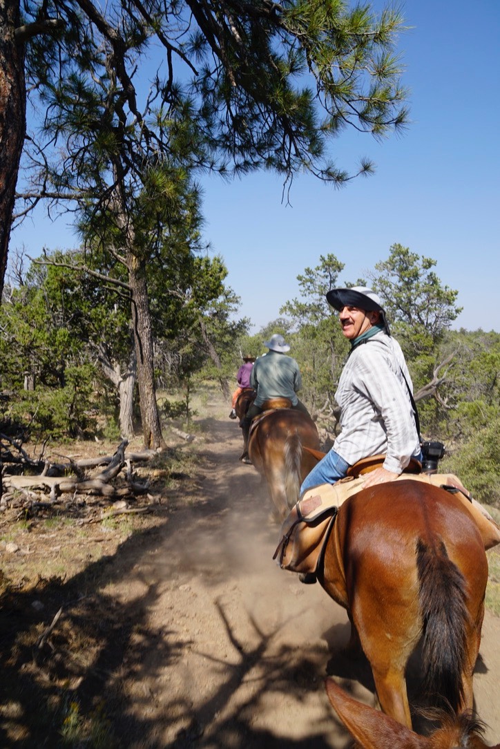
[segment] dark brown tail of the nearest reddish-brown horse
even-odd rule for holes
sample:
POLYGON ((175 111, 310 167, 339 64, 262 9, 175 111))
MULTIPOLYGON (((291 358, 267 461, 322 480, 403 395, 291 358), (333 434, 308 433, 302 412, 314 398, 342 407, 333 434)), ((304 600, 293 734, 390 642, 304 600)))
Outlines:
POLYGON ((418 600, 424 622, 424 689, 448 700, 456 712, 463 698, 466 666, 466 582, 442 541, 430 548, 417 543, 418 600))

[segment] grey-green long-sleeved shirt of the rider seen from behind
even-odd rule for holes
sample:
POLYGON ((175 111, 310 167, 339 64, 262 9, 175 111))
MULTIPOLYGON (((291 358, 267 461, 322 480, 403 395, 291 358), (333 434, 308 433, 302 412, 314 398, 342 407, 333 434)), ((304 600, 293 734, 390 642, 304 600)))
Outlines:
POLYGON ((292 357, 269 351, 258 357, 251 370, 250 384, 257 390, 256 406, 261 406, 268 398, 290 398, 296 406, 296 391, 302 387, 299 365, 292 357))

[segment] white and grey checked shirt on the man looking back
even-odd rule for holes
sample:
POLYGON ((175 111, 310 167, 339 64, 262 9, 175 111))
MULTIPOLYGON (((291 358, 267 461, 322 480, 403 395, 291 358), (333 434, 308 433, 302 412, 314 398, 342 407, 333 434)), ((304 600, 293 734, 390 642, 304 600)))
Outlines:
POLYGON ((405 377, 412 387, 403 351, 385 332, 376 333, 350 354, 335 393, 341 408, 341 433, 333 445, 350 465, 386 453, 383 467, 401 473, 410 458, 419 455, 405 377))

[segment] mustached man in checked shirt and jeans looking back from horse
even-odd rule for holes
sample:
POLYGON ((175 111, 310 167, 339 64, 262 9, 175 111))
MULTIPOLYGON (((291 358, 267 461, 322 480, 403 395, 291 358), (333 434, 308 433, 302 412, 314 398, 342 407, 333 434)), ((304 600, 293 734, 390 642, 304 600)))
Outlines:
POLYGON ((355 286, 334 288, 326 299, 338 310, 342 333, 351 344, 335 392, 341 433, 302 483, 301 494, 344 478, 351 465, 371 455, 383 453, 385 461, 369 473, 364 488, 394 481, 411 458, 421 460, 412 380, 380 298, 370 288, 355 286))

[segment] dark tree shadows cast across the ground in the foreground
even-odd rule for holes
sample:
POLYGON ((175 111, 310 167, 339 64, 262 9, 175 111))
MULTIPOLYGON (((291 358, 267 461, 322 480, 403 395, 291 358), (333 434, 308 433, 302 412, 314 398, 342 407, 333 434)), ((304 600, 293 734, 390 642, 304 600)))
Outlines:
MULTIPOLYGON (((151 625, 148 612, 160 595, 158 583, 148 583, 142 595, 126 604, 106 593, 109 583, 132 573, 144 554, 158 545, 164 531, 165 528, 149 534, 150 539, 142 538, 140 545, 135 537, 127 539, 114 557, 88 565, 85 572, 67 582, 47 580, 34 591, 10 591, 3 596, 0 745, 4 748, 67 746, 61 732, 65 727, 67 730, 72 719, 80 721, 75 733, 80 741, 90 735, 85 730, 90 731, 93 725, 95 731, 100 721, 100 730, 109 732, 106 738, 109 749, 165 747, 159 736, 170 720, 183 724, 171 744, 176 749, 331 747, 328 736, 335 721, 329 706, 321 725, 311 727, 311 739, 283 739, 271 730, 254 730, 252 723, 263 695, 287 694, 292 690, 300 703, 311 691, 318 690, 313 681, 316 668, 307 652, 299 658, 290 658, 286 649, 281 649, 278 655, 269 655, 267 649, 275 632, 264 634, 256 621, 251 623, 258 634, 257 645, 240 642, 231 631, 220 601, 216 605, 222 626, 240 658, 236 665, 221 661, 219 667, 225 670, 225 679, 218 691, 198 709, 193 707, 192 700, 174 697, 161 726, 158 718, 147 717, 155 701, 153 694, 144 694, 142 707, 135 696, 132 714, 121 684, 131 680, 141 683, 143 677, 147 677, 147 683, 159 679, 169 663, 183 658, 186 649, 192 652, 197 647, 189 636, 179 639, 178 632, 167 626, 151 625), (34 601, 43 602, 42 613, 33 607, 34 601), (40 645, 40 634, 47 631, 52 615, 60 607, 61 619, 40 645), (218 712, 225 710, 231 695, 246 682, 257 664, 263 664, 258 688, 242 703, 234 703, 237 707, 233 712, 217 720, 215 733, 208 731, 218 712)), ((192 689, 196 690, 195 683, 192 689)), ((70 742, 70 745, 80 744, 70 742)), ((91 741, 88 745, 94 746, 91 741)))

